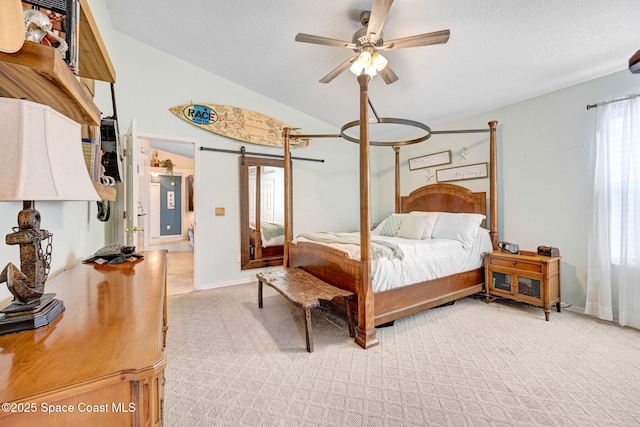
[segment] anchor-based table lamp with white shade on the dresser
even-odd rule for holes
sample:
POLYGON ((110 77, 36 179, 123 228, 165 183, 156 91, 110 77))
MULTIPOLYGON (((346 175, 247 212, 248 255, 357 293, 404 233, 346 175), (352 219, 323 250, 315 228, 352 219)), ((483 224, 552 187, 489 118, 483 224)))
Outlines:
POLYGON ((44 287, 51 264, 52 234, 40 229, 36 201, 100 200, 87 170, 80 125, 52 108, 0 98, 0 201, 21 201, 18 227, 6 237, 20 246, 20 268, 0 272, 13 302, 0 310, 0 334, 48 325, 64 310, 44 287))

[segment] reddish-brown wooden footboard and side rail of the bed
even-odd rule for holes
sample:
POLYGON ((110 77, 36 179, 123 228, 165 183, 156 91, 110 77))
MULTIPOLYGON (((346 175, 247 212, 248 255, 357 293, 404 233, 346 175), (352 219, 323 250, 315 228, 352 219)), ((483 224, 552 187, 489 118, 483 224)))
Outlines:
MULTIPOLYGON (((290 246, 291 267, 298 267, 340 289, 362 294, 360 262, 340 250, 310 242, 290 246)), ((482 268, 374 294, 375 326, 437 307, 484 289, 482 268)), ((357 313, 358 305, 354 307, 357 313)), ((359 316, 356 316, 359 318, 359 316)))

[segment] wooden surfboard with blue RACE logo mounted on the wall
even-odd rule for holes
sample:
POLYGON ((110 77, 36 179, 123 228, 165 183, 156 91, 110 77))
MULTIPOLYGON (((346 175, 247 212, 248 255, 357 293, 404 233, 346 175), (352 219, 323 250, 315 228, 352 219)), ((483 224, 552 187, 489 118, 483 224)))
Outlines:
MULTIPOLYGON (((243 108, 220 104, 185 104, 169 108, 176 116, 209 132, 251 144, 282 147, 282 129, 291 127, 273 117, 243 108)), ((295 138, 291 132, 291 147, 309 145, 306 138, 295 138)))

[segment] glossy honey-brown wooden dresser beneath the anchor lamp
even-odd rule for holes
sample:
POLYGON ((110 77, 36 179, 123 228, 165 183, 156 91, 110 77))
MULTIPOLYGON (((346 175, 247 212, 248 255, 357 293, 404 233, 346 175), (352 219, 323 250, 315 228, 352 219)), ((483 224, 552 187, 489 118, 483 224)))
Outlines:
POLYGON ((166 252, 80 264, 46 291, 56 320, 0 336, 0 425, 162 425, 166 252))

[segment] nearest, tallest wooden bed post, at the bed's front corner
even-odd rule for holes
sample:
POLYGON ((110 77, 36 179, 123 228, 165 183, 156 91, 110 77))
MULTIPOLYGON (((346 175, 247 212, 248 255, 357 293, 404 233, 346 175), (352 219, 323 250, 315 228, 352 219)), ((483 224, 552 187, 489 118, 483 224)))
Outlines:
POLYGON ((360 84, 360 291, 358 294, 358 328, 356 343, 362 348, 378 345, 371 287, 371 207, 369 204, 369 94, 371 77, 358 76, 360 84))

